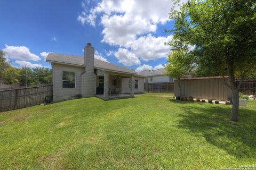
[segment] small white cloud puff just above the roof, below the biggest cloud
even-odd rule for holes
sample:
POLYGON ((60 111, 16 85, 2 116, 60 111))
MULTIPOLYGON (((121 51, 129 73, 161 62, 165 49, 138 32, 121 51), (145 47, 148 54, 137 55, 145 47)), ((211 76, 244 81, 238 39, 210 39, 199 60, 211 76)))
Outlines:
POLYGON ((126 66, 131 65, 140 65, 140 60, 135 54, 129 52, 126 48, 119 48, 118 52, 115 52, 115 57, 118 59, 119 63, 122 63, 126 66))

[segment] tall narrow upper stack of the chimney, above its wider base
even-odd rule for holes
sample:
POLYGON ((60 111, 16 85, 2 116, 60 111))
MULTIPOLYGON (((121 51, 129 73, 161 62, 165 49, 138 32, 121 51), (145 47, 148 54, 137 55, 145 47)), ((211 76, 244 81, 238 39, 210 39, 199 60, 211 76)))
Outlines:
POLYGON ((84 47, 85 72, 94 72, 94 48, 91 43, 84 47))

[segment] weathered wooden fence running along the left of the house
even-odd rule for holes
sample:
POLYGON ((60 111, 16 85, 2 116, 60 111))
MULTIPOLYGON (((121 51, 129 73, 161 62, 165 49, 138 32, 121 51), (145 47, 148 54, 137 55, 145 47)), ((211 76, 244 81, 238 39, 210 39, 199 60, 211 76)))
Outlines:
POLYGON ((2 90, 0 112, 43 104, 49 95, 52 95, 52 85, 2 90))

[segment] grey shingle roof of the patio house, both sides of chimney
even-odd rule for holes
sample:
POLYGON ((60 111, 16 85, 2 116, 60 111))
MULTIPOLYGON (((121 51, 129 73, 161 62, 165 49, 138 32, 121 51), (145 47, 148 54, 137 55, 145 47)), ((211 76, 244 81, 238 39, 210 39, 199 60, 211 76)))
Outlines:
MULTIPOLYGON (((76 65, 76 66, 85 66, 84 65, 84 56, 58 54, 58 53, 49 53, 46 57, 46 62, 76 65)), ((98 60, 95 58, 94 58, 94 67, 95 67, 95 69, 103 69, 103 70, 109 70, 109 71, 114 71, 114 72, 117 71, 117 72, 124 72, 124 73, 130 73, 130 74, 138 74, 137 72, 127 69, 125 67, 111 64, 111 63, 101 61, 101 60, 98 60)))

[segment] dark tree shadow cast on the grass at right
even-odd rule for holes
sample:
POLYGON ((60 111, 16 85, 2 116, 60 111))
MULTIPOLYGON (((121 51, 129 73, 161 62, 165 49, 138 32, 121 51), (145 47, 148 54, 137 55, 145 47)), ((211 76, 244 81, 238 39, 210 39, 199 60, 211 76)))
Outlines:
MULTIPOLYGON (((172 101, 178 103, 178 101, 172 101)), ((183 102, 179 102, 181 104, 183 102)), ((186 103, 184 103, 186 104, 186 103)), ((196 104, 196 103, 195 103, 196 104)), ((179 114, 179 128, 194 135, 202 135, 206 141, 238 158, 255 158, 256 112, 239 109, 239 121, 229 120, 231 107, 203 104, 180 106, 185 114, 179 114)))

